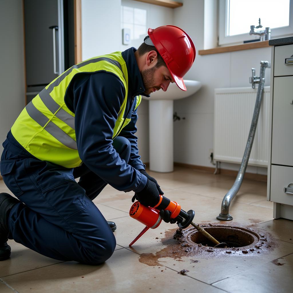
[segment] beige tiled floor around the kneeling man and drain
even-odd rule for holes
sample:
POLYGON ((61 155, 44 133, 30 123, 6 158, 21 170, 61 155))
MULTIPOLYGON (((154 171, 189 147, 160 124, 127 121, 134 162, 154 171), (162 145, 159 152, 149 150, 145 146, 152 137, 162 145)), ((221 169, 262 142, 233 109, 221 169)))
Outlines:
MULTIPOLYGON (((270 235, 274 248, 253 257, 192 257, 198 263, 191 263, 186 256, 161 257, 156 264, 147 265, 142 254, 156 255, 167 248, 168 239, 161 239, 166 232, 168 235, 175 231, 176 225, 162 222, 129 248, 128 244, 144 227, 128 216, 133 193, 107 186, 94 203, 106 219, 114 219, 117 224, 117 246, 108 261, 99 266, 60 262, 10 240, 11 258, 0 262, 0 292, 292 292, 293 221, 272 218, 272 202, 266 201, 266 183, 244 179, 231 203, 233 221, 221 222, 216 216, 234 178, 181 167, 173 173, 149 173, 157 179, 166 197, 185 210, 195 210, 194 222, 250 227, 270 235), (189 272, 178 274, 182 269, 189 272)), ((1 180, 0 192, 9 192, 1 180)))

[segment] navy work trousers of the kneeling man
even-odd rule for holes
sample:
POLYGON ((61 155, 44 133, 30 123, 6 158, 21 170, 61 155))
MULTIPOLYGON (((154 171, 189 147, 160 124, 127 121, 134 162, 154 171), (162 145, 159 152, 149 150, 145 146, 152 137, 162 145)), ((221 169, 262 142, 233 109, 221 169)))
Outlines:
MULTIPOLYGON (((21 201, 9 214, 8 238, 57 260, 96 265, 110 258, 116 240, 92 202, 107 183, 84 164, 69 169, 36 159, 11 132, 3 146, 1 175, 21 201)), ((116 137, 113 147, 127 163, 128 139, 116 137)))

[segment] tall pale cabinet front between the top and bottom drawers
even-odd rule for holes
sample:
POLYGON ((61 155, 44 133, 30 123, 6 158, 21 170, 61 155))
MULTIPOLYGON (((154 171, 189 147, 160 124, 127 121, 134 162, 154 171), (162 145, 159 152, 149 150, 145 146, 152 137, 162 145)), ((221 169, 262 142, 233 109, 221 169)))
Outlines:
POLYGON ((274 78, 272 164, 293 166, 293 76, 274 78))

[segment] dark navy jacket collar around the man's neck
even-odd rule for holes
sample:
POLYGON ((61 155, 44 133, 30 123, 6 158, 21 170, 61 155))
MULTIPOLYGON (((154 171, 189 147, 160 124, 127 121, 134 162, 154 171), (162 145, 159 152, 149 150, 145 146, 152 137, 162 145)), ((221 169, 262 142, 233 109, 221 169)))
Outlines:
POLYGON ((125 51, 123 51, 122 57, 125 60, 127 72, 128 72, 128 93, 131 94, 132 97, 142 95, 145 97, 150 97, 144 93, 144 83, 142 81, 142 75, 139 72, 136 59, 134 57, 134 52, 136 49, 131 47, 125 51))

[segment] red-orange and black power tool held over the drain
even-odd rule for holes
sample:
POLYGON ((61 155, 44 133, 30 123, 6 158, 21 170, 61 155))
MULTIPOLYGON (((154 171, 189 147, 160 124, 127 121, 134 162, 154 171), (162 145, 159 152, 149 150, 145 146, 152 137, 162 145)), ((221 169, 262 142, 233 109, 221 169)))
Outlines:
POLYGON ((155 229, 161 224, 161 209, 171 212, 170 218, 176 220, 179 228, 188 227, 195 215, 193 210, 185 212, 183 209, 181 209, 181 206, 177 202, 171 201, 163 195, 160 195, 160 201, 155 207, 146 207, 138 201, 134 202, 130 208, 129 215, 133 219, 136 219, 137 221, 146 225, 146 227, 129 244, 129 246, 132 246, 132 244, 136 242, 137 239, 139 239, 149 228, 155 229))

